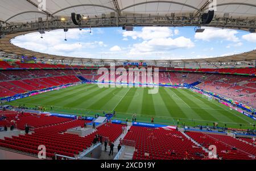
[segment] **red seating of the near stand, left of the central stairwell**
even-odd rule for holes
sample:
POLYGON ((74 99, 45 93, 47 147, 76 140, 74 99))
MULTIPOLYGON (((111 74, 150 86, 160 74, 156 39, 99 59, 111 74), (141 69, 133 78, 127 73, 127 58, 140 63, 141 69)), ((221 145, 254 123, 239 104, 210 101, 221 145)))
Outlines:
POLYGON ((0 126, 6 126, 7 123, 11 124, 11 120, 15 120, 19 130, 24 130, 25 124, 28 124, 33 128, 34 133, 12 136, 11 138, 5 137, 4 140, 0 139, 0 147, 30 153, 31 155, 36 155, 38 146, 44 144, 47 148, 47 157, 53 157, 55 153, 75 157, 75 155, 79 155, 92 145, 95 135, 108 137, 110 141, 114 142, 122 134, 121 124, 106 123, 97 127, 97 130, 91 134, 80 137, 65 132, 71 128, 84 127, 85 122, 89 123, 88 120, 72 120, 56 116, 38 116, 36 114, 18 114, 5 111, 1 111, 1 114, 6 116, 6 120, 1 121, 0 126), (18 119, 15 119, 16 115, 18 115, 18 119))

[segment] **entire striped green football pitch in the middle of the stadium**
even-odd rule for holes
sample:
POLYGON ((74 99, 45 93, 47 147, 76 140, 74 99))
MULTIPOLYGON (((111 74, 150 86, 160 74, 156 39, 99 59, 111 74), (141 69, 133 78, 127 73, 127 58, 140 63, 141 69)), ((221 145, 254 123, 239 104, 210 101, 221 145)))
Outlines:
POLYGON ((157 94, 148 94, 150 88, 99 88, 97 85, 78 85, 59 91, 50 91, 33 97, 19 99, 9 105, 35 108, 44 106, 46 111, 62 114, 94 116, 115 111, 114 119, 131 120, 137 114, 137 122, 179 124, 187 126, 218 126, 253 128, 254 120, 230 110, 216 101, 209 101, 201 94, 188 89, 159 87, 157 94), (51 109, 53 106, 53 109, 51 109), (242 126, 240 126, 242 124, 242 126))

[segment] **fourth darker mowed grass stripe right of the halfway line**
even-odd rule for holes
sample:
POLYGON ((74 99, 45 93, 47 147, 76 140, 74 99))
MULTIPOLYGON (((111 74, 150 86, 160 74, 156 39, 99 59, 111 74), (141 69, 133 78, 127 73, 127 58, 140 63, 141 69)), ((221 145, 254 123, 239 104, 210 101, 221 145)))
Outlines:
MULTIPOLYGON (((180 93, 180 91, 176 90, 176 89, 172 89, 172 91, 175 92, 175 94, 179 95, 179 97, 181 99, 183 99, 183 101, 185 103, 187 103, 189 106, 191 107, 195 107, 195 108, 191 108, 193 111, 196 112, 196 114, 198 114, 201 118, 203 118, 204 120, 210 120, 210 121, 218 121, 217 118, 215 118, 214 116, 212 116, 211 114, 209 114, 209 112, 207 110, 201 109, 204 108, 204 106, 199 106, 194 102, 194 99, 189 99, 187 97, 185 97, 185 95, 183 93, 180 93), (196 109, 198 108, 198 109, 196 109)), ((192 118, 194 119, 194 118, 192 118)))

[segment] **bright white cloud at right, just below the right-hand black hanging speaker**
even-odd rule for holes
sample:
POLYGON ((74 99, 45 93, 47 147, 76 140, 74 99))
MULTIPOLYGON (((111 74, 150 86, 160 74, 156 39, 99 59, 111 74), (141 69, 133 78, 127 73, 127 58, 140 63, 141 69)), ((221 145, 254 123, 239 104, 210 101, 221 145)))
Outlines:
POLYGON ((220 29, 220 28, 204 28, 205 31, 195 34, 195 39, 210 41, 212 39, 222 39, 233 42, 240 41, 236 36, 238 31, 229 30, 229 29, 220 29))

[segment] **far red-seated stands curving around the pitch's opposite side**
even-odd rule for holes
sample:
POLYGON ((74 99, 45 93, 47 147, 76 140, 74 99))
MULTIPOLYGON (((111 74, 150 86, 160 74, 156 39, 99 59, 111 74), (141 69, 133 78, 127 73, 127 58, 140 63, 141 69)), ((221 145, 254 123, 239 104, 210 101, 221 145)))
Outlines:
MULTIPOLYGON (((4 63, 7 65, 7 62, 4 63)), ((19 64, 18 62, 16 64, 19 64)), ((3 65, 3 64, 2 64, 3 65)), ((49 65, 49 64, 40 64, 49 65)), ((30 66, 27 64, 26 66, 30 66)), ((30 67, 32 68, 31 65, 30 67)), ((55 65, 65 66, 65 65, 55 65)), ((70 66, 71 68, 72 66, 70 66)), ((64 68, 64 67, 63 67, 64 68)), ((112 74, 98 75, 96 69, 22 69, 22 70, 1 70, 0 71, 0 86, 2 87, 0 91, 0 97, 8 97, 19 93, 26 93, 28 91, 46 89, 53 86, 60 86, 65 84, 72 84, 81 81, 82 76, 86 80, 98 81, 110 81, 112 77, 115 78, 116 82, 122 81, 118 80, 123 74, 112 74)), ((65 68, 69 68, 66 67, 65 68)), ((170 84, 170 85, 183 85, 183 84, 193 84, 199 81, 197 88, 211 91, 213 93, 222 95, 227 98, 234 99, 255 107, 255 96, 256 96, 256 81, 255 76, 249 76, 250 74, 255 74, 255 69, 182 69, 182 68, 160 68, 158 76, 158 81, 160 84, 170 84), (170 71, 171 70, 171 71, 170 71), (232 72, 233 71, 233 72, 232 72), (248 74, 248 76, 237 75, 243 71, 242 74, 248 74), (200 73, 195 73, 200 72, 200 73), (207 73, 204 73, 207 72, 207 73), (219 73, 208 73, 208 72, 219 72, 219 73), (220 73, 230 73, 230 74, 220 74, 220 73)), ((144 82, 151 84, 154 81, 153 78, 148 78, 147 80, 142 80, 142 74, 147 75, 147 73, 139 73, 139 75, 129 76, 127 74, 126 80, 129 82, 144 82), (132 78, 133 77, 133 78, 132 78), (130 81, 130 79, 132 79, 130 81)))

